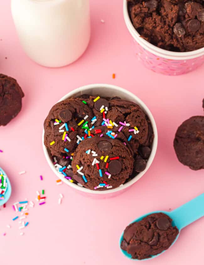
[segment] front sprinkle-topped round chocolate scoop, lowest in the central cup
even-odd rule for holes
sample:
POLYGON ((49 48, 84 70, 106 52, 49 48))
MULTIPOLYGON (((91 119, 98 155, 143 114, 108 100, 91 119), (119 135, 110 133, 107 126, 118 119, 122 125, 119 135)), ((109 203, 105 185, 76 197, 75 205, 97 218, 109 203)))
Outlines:
POLYGON ((117 188, 132 174, 133 157, 120 140, 95 135, 77 147, 72 170, 73 179, 86 188, 117 188))

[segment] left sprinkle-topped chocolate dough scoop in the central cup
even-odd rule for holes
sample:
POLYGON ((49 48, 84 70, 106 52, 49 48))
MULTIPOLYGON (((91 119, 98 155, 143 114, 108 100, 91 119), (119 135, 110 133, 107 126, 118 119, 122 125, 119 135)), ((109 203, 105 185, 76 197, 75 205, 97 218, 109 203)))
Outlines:
POLYGON ((78 99, 56 103, 44 122, 44 144, 51 155, 71 155, 84 139, 83 124, 90 123, 93 116, 91 109, 78 99))

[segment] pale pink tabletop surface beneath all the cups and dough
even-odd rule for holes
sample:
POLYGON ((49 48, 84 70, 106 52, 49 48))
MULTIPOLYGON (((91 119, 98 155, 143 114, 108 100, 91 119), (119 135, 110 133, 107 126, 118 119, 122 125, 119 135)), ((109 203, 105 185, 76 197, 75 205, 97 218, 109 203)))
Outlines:
MULTIPOLYGON (((0 153, 0 166, 13 188, 6 208, 0 209, 0 256, 4 265, 133 264, 136 261, 123 257, 118 247, 126 225, 149 211, 175 209, 204 191, 203 170, 194 172, 181 165, 173 149, 178 125, 190 116, 203 114, 204 66, 178 77, 145 69, 134 56, 122 1, 90 2, 92 36, 86 53, 70 66, 48 69, 24 54, 12 22, 10 1, 1 1, 0 72, 15 77, 25 93, 21 113, 0 128, 0 149, 4 151, 0 153), (116 73, 115 79, 112 73, 116 73), (56 186, 56 176, 41 146, 43 121, 51 106, 72 89, 99 82, 119 85, 141 98, 154 115, 159 137, 149 171, 126 193, 108 200, 82 197, 65 184, 56 186), (26 174, 20 176, 18 172, 23 170, 26 174), (39 175, 43 175, 43 181, 39 175), (12 203, 34 200, 35 191, 42 188, 46 204, 36 204, 29 210, 30 224, 20 236, 18 220, 12 221, 16 215, 12 203), (57 204, 59 193, 64 194, 61 205, 57 204)), ((201 219, 185 228, 169 251, 142 264, 202 264, 203 234, 201 219)))

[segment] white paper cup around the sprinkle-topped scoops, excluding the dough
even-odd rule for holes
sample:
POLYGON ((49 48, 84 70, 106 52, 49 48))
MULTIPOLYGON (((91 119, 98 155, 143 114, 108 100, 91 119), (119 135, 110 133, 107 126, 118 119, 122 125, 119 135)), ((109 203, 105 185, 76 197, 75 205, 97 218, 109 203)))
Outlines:
POLYGON ((154 140, 152 144, 152 152, 151 155, 148 159, 147 162, 147 167, 144 171, 140 172, 135 178, 130 180, 129 182, 123 184, 123 186, 111 189, 111 190, 105 190, 105 191, 96 191, 96 190, 90 190, 88 188, 80 187, 75 183, 71 183, 68 179, 64 178, 64 176, 59 173, 55 166, 53 165, 50 156, 48 154, 47 148, 44 145, 44 129, 43 129, 43 134, 42 134, 42 145, 43 145, 43 151, 46 157, 46 160, 51 167, 52 171, 56 174, 58 178, 60 178, 64 183, 66 183, 68 186, 74 188, 76 191, 79 191, 83 195, 87 195, 89 197, 93 198, 99 198, 99 199, 105 199, 105 198, 110 198, 114 197, 116 195, 119 195, 120 193, 123 193, 124 191, 127 190, 132 184, 134 184, 136 181, 138 181, 147 171, 150 165, 153 162, 154 156, 156 154, 157 150, 157 142, 158 142, 158 133, 157 133, 157 127, 155 120, 153 118, 153 115, 151 114, 150 110, 148 107, 142 102, 141 99, 137 98, 133 93, 121 88, 117 87, 114 85, 108 85, 108 84, 93 84, 93 85, 87 85, 83 87, 79 87, 77 89, 74 89, 73 91, 69 92, 67 95, 62 97, 58 102, 65 100, 67 98, 72 98, 72 97, 78 97, 83 94, 89 94, 93 96, 98 96, 100 95, 101 97, 113 97, 113 96, 118 96, 121 97, 122 99, 130 100, 134 103, 137 103, 141 109, 148 115, 152 128, 153 128, 153 133, 154 133, 154 140))

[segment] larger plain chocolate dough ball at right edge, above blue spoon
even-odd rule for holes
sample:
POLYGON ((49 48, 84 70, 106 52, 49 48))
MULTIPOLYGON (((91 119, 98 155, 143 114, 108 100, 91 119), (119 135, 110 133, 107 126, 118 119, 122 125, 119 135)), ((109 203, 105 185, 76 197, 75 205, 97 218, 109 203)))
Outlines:
POLYGON ((182 164, 193 170, 204 169, 204 116, 191 117, 179 126, 174 149, 182 164))

